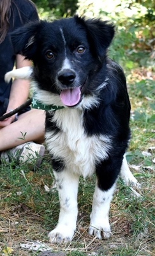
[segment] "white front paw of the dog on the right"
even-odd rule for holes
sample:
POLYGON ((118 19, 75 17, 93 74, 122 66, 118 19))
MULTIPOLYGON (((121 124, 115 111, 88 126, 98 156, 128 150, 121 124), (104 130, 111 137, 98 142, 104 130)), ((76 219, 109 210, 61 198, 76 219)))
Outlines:
POLYGON ((105 239, 109 238, 112 235, 112 232, 110 230, 110 225, 107 225, 107 227, 93 227, 92 225, 89 227, 89 234, 91 236, 96 236, 98 239, 102 239, 103 237, 105 239))

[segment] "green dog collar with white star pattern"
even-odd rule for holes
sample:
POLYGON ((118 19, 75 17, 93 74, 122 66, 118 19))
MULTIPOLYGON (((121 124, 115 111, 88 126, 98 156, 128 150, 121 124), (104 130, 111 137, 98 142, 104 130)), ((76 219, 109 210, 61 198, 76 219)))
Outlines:
POLYGON ((59 110, 59 109, 63 109, 64 107, 63 106, 55 106, 53 104, 46 105, 46 104, 43 104, 43 103, 39 102, 37 99, 35 99, 33 97, 33 99, 32 99, 32 108, 43 109, 43 110, 47 110, 47 111, 56 111, 56 110, 59 110))

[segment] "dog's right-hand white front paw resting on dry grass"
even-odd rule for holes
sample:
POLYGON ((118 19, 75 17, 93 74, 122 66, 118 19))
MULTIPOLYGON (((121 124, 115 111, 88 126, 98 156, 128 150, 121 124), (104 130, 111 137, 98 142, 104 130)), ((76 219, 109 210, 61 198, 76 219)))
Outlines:
POLYGON ((108 238, 112 234, 110 224, 108 221, 103 221, 103 223, 92 223, 89 227, 89 234, 98 237, 98 239, 102 239, 103 237, 108 238))

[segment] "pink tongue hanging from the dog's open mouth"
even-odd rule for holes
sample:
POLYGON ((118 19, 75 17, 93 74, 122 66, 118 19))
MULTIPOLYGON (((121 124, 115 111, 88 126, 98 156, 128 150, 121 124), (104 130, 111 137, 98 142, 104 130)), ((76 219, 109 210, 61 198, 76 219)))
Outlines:
POLYGON ((81 91, 80 88, 66 89, 60 94, 61 101, 66 106, 74 106, 80 100, 81 91))

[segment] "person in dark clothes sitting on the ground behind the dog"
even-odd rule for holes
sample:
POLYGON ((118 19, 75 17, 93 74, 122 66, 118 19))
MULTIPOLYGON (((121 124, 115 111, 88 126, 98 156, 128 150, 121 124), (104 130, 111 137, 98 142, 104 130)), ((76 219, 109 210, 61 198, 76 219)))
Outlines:
MULTIPOLYGON (((17 108, 29 97, 29 81, 15 79, 7 84, 4 75, 13 69, 32 65, 24 56, 13 54, 9 33, 29 21, 38 20, 36 6, 30 0, 0 0, 0 116, 17 108)), ((0 158, 10 161, 36 160, 40 165, 45 147, 45 112, 30 107, 0 122, 0 158), (17 156, 18 155, 18 156, 17 156)))

